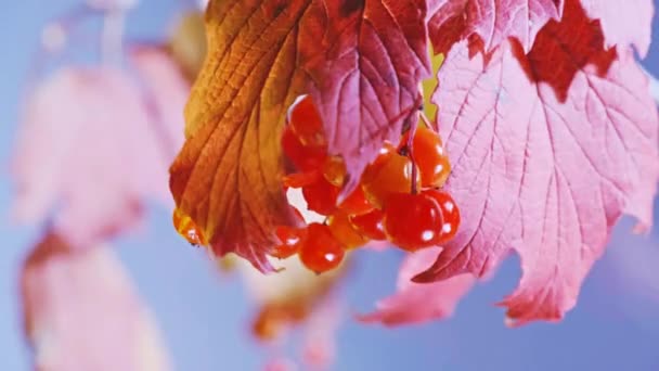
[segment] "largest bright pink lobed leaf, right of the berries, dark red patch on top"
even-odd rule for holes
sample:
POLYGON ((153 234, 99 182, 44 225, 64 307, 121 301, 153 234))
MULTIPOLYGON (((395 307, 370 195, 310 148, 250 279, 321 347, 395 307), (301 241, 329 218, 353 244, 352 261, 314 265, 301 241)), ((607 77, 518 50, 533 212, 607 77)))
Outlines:
POLYGON ((589 37, 556 38, 557 28, 600 29, 587 26, 576 1, 564 20, 540 33, 547 35, 528 57, 518 43, 504 43, 486 67, 465 42, 456 46, 434 97, 454 164, 447 187, 463 225, 414 280, 482 276, 516 251, 522 277, 502 303, 511 324, 558 320, 572 308, 622 213, 651 222, 659 120, 647 79, 624 48, 607 71, 582 65, 604 44, 577 49, 589 37), (568 84, 535 79, 541 65, 570 63, 573 76, 555 68, 568 84), (556 86, 569 86, 565 97, 556 86))

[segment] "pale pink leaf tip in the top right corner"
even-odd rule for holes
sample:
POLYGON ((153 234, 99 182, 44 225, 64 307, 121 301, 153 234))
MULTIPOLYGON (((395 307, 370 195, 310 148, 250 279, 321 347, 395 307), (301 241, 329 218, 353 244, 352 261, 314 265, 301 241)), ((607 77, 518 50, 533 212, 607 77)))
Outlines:
POLYGON ((581 0, 581 4, 602 23, 607 46, 634 44, 641 56, 647 54, 655 14, 651 0, 581 0))

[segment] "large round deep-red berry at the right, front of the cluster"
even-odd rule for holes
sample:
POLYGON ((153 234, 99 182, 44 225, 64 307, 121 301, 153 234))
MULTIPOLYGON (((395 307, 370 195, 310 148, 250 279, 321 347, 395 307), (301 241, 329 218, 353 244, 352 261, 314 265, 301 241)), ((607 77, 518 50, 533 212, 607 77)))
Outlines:
POLYGON ((423 193, 393 193, 385 207, 385 232, 391 243, 406 251, 435 245, 443 220, 439 205, 423 193))

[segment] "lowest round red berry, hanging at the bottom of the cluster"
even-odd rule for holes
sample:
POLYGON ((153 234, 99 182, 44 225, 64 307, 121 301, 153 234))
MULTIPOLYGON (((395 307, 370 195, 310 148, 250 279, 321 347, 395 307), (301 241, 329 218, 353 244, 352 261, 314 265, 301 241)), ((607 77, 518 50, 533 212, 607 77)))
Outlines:
POLYGON ((330 227, 313 222, 307 227, 307 239, 298 253, 305 267, 322 273, 338 267, 346 254, 330 227))

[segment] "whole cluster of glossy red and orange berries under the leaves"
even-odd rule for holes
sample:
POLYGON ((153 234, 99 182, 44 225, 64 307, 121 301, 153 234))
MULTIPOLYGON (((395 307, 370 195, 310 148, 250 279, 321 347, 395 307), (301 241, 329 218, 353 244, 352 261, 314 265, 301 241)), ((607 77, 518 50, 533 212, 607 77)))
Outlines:
POLYGON ((371 240, 416 251, 455 235, 460 210, 441 190, 451 166, 441 139, 430 128, 408 130, 398 146, 386 142, 360 184, 341 202, 346 166, 340 157, 327 154, 322 121, 310 97, 292 107, 282 148, 297 170, 284 177, 284 187, 301 189, 307 208, 326 219, 303 228, 277 227, 280 244, 272 256, 298 254, 307 268, 321 273, 336 268, 347 250, 371 240))

